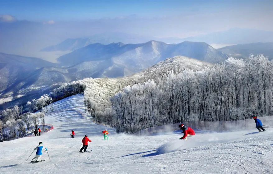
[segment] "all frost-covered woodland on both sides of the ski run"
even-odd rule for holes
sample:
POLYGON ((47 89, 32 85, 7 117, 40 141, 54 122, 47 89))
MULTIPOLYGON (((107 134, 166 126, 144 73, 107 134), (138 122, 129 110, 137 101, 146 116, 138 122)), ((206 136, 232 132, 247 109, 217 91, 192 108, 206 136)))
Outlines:
POLYGON ((117 132, 134 133, 185 121, 272 115, 272 68, 273 62, 263 55, 251 55, 246 60, 230 57, 217 65, 187 57, 168 58, 133 76, 86 78, 64 84, 49 95, 28 102, 24 108, 28 114, 19 117, 16 109, 14 114, 4 110, 1 132, 5 130, 2 135, 7 139, 14 137, 16 133, 11 130, 19 129, 17 122, 23 115, 33 125, 31 112, 52 112, 50 103, 83 91, 89 116, 98 123, 116 127, 117 132))

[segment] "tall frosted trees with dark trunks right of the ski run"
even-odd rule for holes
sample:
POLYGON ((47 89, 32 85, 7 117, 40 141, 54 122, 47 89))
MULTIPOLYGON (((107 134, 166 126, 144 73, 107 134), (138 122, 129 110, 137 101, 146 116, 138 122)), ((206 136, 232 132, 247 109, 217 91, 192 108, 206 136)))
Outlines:
MULTIPOLYGON (((97 121, 128 133, 184 121, 271 115, 272 68, 273 62, 263 55, 251 55, 247 60, 231 57, 225 63, 202 69, 183 67, 126 86, 110 98, 111 106, 105 102, 99 105, 102 108, 96 104, 89 108, 97 121)), ((91 91, 87 85, 88 101, 91 91)))

